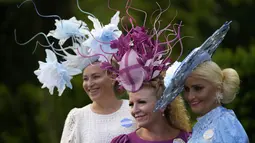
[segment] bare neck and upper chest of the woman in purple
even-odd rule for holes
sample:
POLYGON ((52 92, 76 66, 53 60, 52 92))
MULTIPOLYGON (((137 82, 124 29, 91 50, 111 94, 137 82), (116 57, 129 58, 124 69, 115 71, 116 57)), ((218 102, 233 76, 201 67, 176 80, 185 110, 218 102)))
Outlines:
POLYGON ((140 128, 136 133, 140 138, 147 141, 165 141, 178 136, 180 130, 170 126, 164 119, 163 121, 158 121, 156 124, 153 124, 148 128, 140 128))

